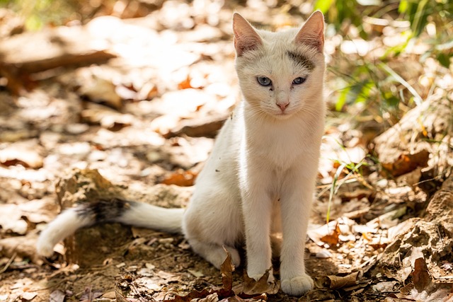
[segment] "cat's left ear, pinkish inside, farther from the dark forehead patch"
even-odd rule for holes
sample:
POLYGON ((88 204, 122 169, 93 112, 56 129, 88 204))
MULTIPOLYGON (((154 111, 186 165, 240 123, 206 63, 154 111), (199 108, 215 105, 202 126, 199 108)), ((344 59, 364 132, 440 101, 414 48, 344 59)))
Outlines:
POLYGON ((238 57, 241 57, 243 52, 255 50, 263 44, 260 35, 239 13, 233 15, 233 33, 234 48, 238 57))

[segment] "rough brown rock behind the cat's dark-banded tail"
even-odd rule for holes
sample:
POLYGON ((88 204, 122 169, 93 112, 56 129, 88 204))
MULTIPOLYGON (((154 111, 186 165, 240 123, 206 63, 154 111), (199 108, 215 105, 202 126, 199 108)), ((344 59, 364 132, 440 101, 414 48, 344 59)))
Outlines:
MULTIPOLYGON (((74 204, 93 202, 96 199, 119 197, 139 202, 149 202, 161 207, 183 207, 190 198, 192 189, 173 185, 156 185, 142 190, 113 185, 103 178, 98 170, 74 169, 57 183, 57 197, 62 210, 74 204)), ((119 223, 105 223, 76 231, 64 240, 66 260, 80 267, 101 265, 113 250, 132 241, 130 227, 119 223)))

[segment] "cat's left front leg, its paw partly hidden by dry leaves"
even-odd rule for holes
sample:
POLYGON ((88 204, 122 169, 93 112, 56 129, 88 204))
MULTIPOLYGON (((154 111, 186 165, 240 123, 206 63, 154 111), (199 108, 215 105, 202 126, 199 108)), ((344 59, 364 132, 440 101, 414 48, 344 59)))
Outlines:
MULTIPOLYGON (((272 266, 272 250, 270 248, 272 201, 265 191, 265 187, 262 179, 248 177, 241 190, 246 236, 247 274, 256 280, 260 279, 265 271, 272 266)), ((273 279, 272 274, 270 279, 273 279)))

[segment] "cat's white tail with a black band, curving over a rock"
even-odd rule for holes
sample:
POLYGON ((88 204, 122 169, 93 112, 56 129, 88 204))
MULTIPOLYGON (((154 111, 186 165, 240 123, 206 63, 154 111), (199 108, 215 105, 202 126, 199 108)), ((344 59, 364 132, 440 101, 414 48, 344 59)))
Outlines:
POLYGON ((79 228, 93 226, 96 223, 119 222, 168 233, 180 233, 184 211, 184 209, 165 209, 122 199, 81 204, 63 211, 40 233, 38 254, 50 257, 55 245, 61 240, 79 228))

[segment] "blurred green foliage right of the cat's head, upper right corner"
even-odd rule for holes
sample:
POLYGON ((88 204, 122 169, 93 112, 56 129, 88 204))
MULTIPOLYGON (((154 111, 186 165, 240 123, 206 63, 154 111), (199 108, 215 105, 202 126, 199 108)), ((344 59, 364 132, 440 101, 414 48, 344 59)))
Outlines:
MULTIPOLYGON (((341 64, 331 65, 331 71, 345 81, 336 98, 335 109, 338 111, 344 110, 345 105, 365 103, 362 108, 369 108, 366 103, 374 103, 377 106, 373 108, 379 110, 382 116, 394 117, 396 122, 408 108, 419 105, 435 86, 420 96, 419 89, 414 88, 417 80, 426 82, 432 79, 405 80, 391 68, 391 63, 408 59, 409 65, 414 60, 430 64, 432 61, 429 59, 432 58, 440 66, 450 67, 453 57, 453 1, 316 0, 314 8, 323 11, 326 22, 334 26, 336 33, 345 37, 348 37, 351 25, 362 39, 368 41, 373 40, 375 35, 388 35, 382 30, 386 30, 387 25, 394 25, 394 35, 400 41, 397 45, 386 47, 385 52, 373 61, 358 58, 352 70, 344 69, 341 64), (408 26, 404 26, 403 22, 408 26), (417 57, 412 55, 413 51, 405 53, 408 48, 414 47, 424 47, 425 52, 417 57), (406 110, 401 111, 402 108, 406 110)), ((377 113, 376 110, 374 113, 377 113)))

